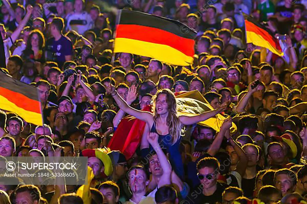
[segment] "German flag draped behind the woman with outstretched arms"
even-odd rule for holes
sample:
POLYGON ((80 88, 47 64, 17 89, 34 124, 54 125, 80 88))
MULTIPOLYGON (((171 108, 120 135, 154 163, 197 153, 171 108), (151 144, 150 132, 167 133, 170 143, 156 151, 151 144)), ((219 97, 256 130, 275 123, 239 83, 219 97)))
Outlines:
MULTIPOLYGON (((197 90, 190 92, 175 93, 177 101, 178 115, 198 115, 205 111, 213 110, 208 101, 197 90)), ((144 111, 151 111, 151 107, 147 106, 144 111)), ((211 127, 217 132, 220 131, 220 127, 226 117, 221 114, 217 114, 215 117, 209 118, 205 121, 197 124, 211 127)), ((127 159, 131 158, 138 145, 141 142, 143 130, 146 123, 142 120, 136 119, 129 115, 121 120, 119 123, 108 147, 111 150, 121 151, 127 159)), ((150 127, 151 128, 151 127, 150 127)), ((231 133, 237 131, 237 127, 232 123, 231 133)))

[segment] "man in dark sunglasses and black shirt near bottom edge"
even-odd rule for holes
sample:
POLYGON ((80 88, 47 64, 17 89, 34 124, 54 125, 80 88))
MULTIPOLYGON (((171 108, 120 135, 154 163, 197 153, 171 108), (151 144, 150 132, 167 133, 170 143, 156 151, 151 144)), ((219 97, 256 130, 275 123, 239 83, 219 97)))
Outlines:
POLYGON ((220 175, 219 161, 214 157, 205 157, 197 163, 197 172, 200 185, 190 191, 186 200, 191 200, 191 203, 221 203, 225 187, 217 182, 220 175))

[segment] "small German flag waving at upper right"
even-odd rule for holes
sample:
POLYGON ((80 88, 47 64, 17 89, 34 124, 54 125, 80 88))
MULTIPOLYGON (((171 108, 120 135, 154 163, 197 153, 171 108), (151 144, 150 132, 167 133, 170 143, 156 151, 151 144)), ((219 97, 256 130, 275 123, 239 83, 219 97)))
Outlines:
POLYGON ((246 30, 246 43, 265 47, 278 56, 283 56, 282 49, 274 34, 252 17, 243 13, 246 30))

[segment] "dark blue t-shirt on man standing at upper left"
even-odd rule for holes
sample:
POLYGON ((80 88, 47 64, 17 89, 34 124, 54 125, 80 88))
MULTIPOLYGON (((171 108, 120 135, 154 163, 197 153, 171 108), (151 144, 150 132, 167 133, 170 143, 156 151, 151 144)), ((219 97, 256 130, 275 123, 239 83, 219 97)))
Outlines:
POLYGON ((58 41, 50 38, 46 43, 46 51, 47 60, 56 61, 59 66, 62 66, 65 62, 65 56, 72 55, 72 42, 65 36, 62 36, 58 41))

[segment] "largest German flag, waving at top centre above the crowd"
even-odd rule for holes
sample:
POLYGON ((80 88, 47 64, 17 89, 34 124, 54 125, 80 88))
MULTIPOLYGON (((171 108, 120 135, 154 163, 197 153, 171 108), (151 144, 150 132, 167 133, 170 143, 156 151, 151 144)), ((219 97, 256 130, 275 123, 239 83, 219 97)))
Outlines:
POLYGON ((168 18, 120 10, 114 52, 126 52, 158 59, 173 65, 193 62, 196 32, 168 18))

